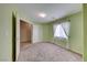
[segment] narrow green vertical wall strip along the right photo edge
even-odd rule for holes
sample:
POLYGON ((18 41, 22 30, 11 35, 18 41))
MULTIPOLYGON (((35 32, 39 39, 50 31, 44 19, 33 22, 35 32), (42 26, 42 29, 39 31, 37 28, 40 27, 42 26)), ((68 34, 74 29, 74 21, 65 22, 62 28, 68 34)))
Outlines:
POLYGON ((83 4, 84 17, 84 61, 87 62, 87 4, 83 4))

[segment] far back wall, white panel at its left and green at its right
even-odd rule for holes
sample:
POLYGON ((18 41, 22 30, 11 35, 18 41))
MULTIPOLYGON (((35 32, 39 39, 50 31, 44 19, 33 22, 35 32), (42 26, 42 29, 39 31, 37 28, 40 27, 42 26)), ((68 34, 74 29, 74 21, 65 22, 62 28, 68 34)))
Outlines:
POLYGON ((53 41, 52 23, 35 23, 33 25, 33 42, 51 42, 53 41))

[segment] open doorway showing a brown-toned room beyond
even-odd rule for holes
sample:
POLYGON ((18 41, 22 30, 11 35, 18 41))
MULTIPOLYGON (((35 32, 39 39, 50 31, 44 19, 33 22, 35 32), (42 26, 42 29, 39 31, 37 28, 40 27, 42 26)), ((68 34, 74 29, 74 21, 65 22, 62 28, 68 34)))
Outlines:
POLYGON ((20 50, 32 43, 32 24, 20 20, 20 50))

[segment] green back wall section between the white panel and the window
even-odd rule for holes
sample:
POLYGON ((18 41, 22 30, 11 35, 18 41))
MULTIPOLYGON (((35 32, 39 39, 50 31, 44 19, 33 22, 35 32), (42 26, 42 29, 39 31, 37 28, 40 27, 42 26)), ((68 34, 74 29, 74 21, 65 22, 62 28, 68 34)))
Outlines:
POLYGON ((52 41, 53 40, 53 25, 52 23, 43 23, 42 25, 42 41, 52 41))

